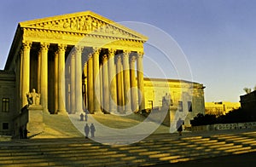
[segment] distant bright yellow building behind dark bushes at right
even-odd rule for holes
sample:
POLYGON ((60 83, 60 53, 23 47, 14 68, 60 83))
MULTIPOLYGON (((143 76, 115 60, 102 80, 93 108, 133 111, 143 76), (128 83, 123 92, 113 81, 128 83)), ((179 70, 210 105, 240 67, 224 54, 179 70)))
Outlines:
POLYGON ((234 109, 241 107, 240 102, 219 101, 206 102, 206 114, 224 115, 234 109))

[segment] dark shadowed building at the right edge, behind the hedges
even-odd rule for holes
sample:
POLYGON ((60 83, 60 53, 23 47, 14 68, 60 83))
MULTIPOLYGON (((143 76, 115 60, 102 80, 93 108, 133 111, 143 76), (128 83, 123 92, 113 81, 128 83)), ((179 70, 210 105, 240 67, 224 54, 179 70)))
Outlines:
POLYGON ((254 120, 256 119, 256 90, 247 95, 240 96, 241 109, 247 112, 254 120))

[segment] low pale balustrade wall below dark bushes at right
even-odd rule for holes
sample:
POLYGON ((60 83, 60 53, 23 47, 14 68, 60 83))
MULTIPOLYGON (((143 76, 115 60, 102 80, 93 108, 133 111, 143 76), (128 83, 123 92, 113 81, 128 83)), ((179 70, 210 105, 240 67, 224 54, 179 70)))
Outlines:
POLYGON ((199 130, 241 130, 241 129, 256 129, 256 122, 249 123, 234 123, 234 124, 208 124, 201 126, 192 126, 192 131, 199 130))

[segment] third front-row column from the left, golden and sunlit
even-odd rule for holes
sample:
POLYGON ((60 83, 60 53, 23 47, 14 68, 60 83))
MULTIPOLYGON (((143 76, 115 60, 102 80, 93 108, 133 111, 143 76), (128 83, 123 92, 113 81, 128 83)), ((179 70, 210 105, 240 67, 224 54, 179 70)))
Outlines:
POLYGON ((58 75, 58 112, 66 112, 65 105, 65 51, 67 46, 64 44, 58 44, 59 53, 59 75, 58 75))

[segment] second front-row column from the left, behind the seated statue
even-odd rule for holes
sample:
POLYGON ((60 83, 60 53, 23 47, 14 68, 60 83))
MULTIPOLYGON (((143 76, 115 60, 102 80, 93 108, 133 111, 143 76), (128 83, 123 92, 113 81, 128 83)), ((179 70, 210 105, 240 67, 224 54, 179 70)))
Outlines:
POLYGON ((48 49, 49 43, 40 43, 41 53, 41 104, 48 111, 48 49))

